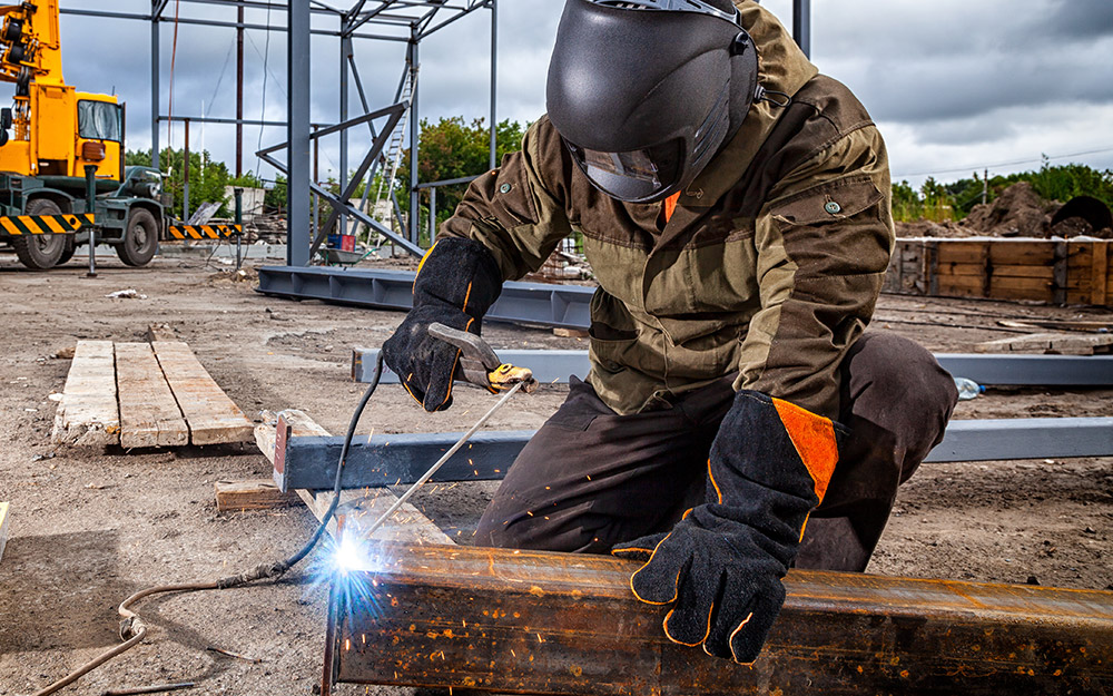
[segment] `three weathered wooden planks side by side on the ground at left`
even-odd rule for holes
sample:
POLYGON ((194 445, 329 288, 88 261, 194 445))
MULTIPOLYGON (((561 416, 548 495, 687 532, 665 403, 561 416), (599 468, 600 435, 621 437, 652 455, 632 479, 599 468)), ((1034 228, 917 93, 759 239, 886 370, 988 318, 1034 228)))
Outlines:
POLYGON ((254 424, 179 341, 79 341, 55 415, 59 444, 247 442, 254 424))

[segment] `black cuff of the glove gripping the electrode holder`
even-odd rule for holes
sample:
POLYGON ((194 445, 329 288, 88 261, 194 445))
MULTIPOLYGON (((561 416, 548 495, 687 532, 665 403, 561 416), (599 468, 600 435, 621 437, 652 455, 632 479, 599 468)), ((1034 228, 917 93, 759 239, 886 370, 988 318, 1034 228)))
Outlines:
POLYGON ((464 237, 443 237, 417 266, 414 306, 449 304, 480 320, 501 292, 502 272, 486 247, 464 237))

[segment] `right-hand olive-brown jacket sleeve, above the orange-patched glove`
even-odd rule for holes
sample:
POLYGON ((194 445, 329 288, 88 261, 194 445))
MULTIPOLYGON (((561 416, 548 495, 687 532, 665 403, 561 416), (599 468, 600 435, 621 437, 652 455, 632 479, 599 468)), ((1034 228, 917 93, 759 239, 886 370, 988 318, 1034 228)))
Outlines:
POLYGON ((885 144, 869 125, 792 169, 756 220, 761 310, 738 390, 836 420, 839 364, 874 313, 893 251, 885 144))

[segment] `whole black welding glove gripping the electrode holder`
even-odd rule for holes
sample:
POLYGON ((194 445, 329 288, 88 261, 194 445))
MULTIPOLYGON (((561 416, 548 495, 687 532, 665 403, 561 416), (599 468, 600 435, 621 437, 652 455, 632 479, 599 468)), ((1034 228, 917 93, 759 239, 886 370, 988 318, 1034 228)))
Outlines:
POLYGON ((502 273, 491 252, 472 239, 443 237, 425 254, 414 278, 414 306, 383 343, 383 360, 426 411, 452 405, 460 349, 429 335, 430 324, 480 333, 502 292, 502 273))

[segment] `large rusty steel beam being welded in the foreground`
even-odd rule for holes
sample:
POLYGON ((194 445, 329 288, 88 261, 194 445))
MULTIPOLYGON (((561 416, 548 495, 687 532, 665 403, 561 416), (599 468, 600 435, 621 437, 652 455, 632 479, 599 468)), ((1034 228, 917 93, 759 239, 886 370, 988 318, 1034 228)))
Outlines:
POLYGON ((584 696, 1113 694, 1113 592, 794 570, 752 667, 669 643, 637 563, 385 545, 334 580, 334 682, 584 696))

